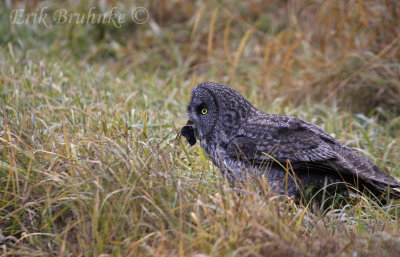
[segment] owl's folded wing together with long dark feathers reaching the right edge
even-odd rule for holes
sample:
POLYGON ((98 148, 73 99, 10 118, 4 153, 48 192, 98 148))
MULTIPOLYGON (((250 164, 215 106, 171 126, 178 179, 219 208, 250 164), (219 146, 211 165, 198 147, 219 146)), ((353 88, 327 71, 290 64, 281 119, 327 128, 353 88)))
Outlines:
POLYGON ((379 191, 388 185, 399 188, 399 183, 376 164, 354 149, 340 145, 319 127, 305 122, 291 127, 246 126, 232 138, 227 154, 257 165, 271 161, 285 165, 290 161, 295 171, 297 167, 315 174, 335 172, 351 181, 360 179, 379 191))

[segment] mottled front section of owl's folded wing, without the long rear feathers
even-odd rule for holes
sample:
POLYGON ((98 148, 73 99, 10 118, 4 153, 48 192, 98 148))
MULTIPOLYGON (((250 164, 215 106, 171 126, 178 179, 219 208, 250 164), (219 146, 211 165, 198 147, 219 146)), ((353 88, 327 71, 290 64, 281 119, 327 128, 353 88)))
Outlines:
POLYGON ((259 129, 255 128, 251 126, 251 131, 244 130, 231 140, 227 147, 231 157, 240 155, 255 162, 319 162, 337 157, 329 145, 331 142, 325 139, 325 134, 321 137, 306 127, 269 126, 265 129, 265 126, 260 125, 259 129))

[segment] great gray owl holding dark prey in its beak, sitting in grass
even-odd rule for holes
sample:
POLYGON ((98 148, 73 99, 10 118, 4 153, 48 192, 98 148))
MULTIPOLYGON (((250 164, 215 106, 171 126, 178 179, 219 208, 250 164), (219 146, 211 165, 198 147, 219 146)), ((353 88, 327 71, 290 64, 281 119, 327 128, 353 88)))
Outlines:
POLYGON ((315 185, 346 182, 398 196, 399 183, 357 151, 320 127, 296 117, 266 114, 233 89, 204 82, 192 90, 189 120, 181 129, 200 146, 230 182, 263 174, 279 194, 298 198, 315 185), (248 176, 247 176, 248 175, 248 176))

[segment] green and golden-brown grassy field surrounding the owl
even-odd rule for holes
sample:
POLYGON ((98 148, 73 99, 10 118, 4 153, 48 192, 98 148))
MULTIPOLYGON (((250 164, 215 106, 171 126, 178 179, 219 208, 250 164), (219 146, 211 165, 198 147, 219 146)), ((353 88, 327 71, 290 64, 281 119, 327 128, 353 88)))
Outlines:
POLYGON ((215 81, 400 177, 399 35, 396 0, 2 1, 0 255, 400 256, 399 202, 231 188, 176 139, 215 81))

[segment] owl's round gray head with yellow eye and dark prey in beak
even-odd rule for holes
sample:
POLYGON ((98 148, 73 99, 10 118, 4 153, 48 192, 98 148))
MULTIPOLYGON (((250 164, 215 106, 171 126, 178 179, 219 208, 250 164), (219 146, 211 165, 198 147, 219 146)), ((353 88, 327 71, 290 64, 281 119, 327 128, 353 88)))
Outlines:
POLYGON ((189 121, 181 134, 191 145, 196 138, 204 139, 213 133, 227 134, 240 125, 252 105, 238 92, 214 82, 195 86, 188 105, 189 121))

